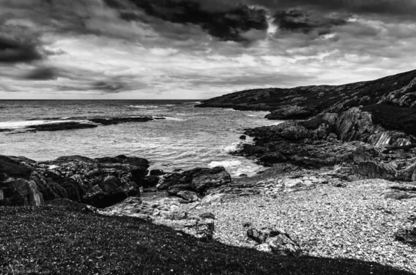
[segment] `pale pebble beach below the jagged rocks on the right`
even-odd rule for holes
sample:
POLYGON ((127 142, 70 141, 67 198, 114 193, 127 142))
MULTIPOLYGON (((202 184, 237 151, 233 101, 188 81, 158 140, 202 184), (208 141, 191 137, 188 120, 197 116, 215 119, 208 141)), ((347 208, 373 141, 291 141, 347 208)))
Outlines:
POLYGON ((354 258, 416 273, 416 247, 395 240, 395 233, 415 226, 416 199, 384 199, 393 184, 371 179, 331 184, 275 195, 227 195, 220 206, 193 209, 216 216, 214 238, 229 245, 252 247, 248 227, 277 227, 289 233, 310 256, 354 258))

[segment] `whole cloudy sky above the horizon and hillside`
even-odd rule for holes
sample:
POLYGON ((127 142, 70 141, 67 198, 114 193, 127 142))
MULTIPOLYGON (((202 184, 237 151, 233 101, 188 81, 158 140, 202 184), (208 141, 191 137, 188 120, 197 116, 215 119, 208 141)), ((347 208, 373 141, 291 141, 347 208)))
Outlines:
POLYGON ((1 99, 205 99, 416 69, 416 0, 0 0, 1 99))

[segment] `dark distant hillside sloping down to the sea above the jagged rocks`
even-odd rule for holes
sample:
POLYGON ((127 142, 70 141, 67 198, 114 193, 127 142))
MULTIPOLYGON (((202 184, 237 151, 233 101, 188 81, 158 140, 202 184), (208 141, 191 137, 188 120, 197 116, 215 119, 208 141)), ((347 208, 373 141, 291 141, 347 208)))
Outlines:
POLYGON ((252 89, 202 101, 198 107, 270 111, 269 119, 306 119, 360 107, 387 130, 416 134, 416 70, 339 86, 252 89))

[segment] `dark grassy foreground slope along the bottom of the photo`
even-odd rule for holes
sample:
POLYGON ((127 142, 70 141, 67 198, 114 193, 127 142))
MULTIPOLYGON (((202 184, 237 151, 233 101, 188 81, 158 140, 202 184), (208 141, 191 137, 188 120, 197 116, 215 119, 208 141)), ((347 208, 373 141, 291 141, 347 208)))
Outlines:
POLYGON ((410 274, 358 260, 277 257, 200 242, 66 199, 0 207, 0 274, 410 274))

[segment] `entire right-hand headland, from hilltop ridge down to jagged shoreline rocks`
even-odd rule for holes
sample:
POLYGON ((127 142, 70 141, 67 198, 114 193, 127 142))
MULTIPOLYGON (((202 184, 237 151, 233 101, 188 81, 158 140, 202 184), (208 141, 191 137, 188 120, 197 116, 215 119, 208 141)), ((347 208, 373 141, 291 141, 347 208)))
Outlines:
POLYGON ((265 166, 338 166, 349 180, 416 181, 416 71, 349 85, 239 91, 198 107, 266 110, 266 118, 286 120, 244 133, 255 143, 236 154, 265 166))

